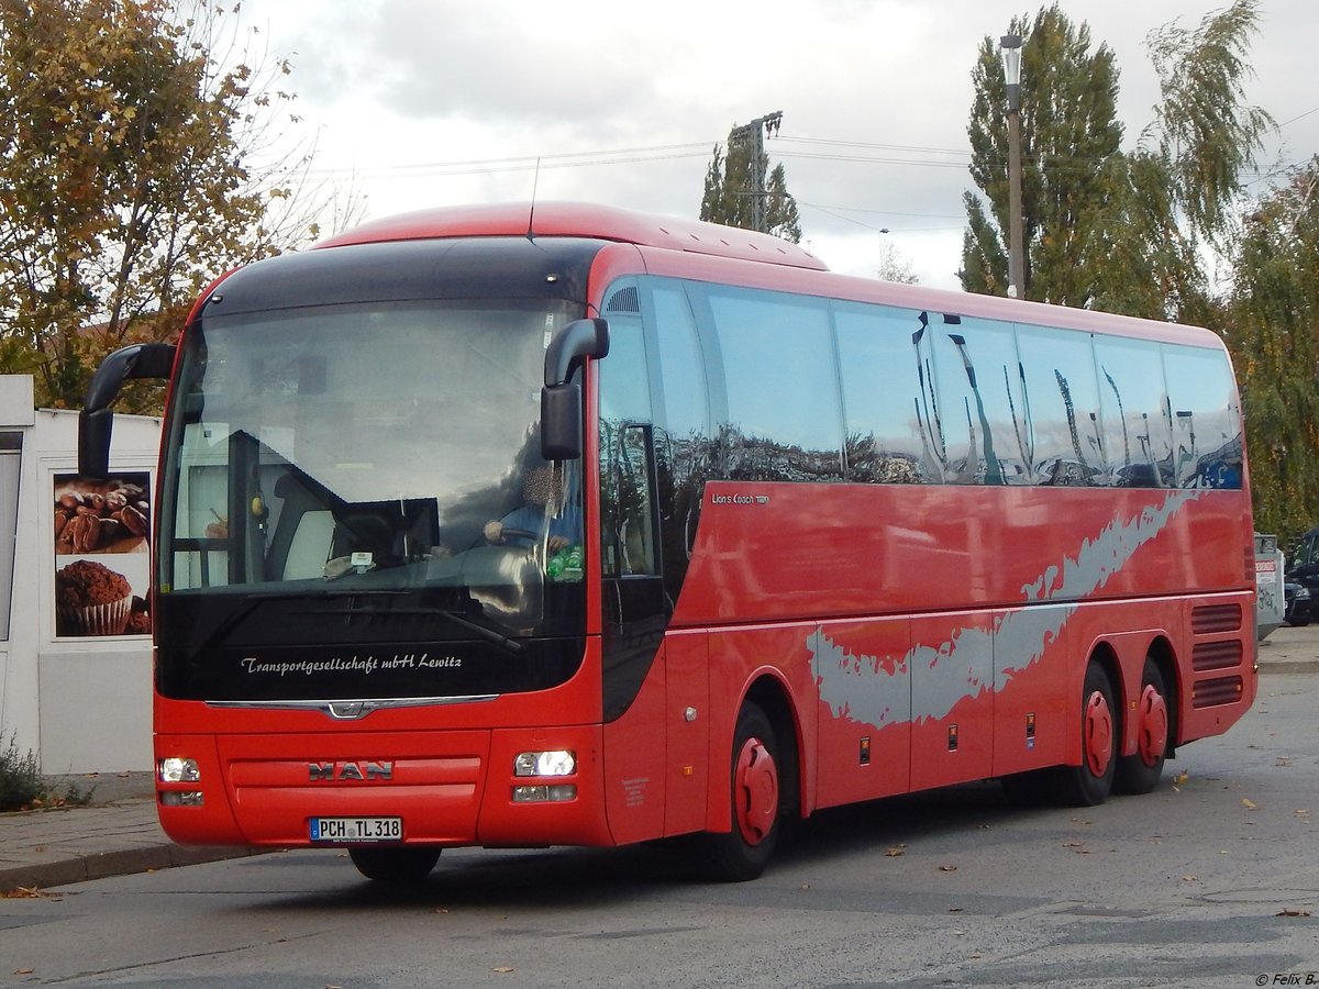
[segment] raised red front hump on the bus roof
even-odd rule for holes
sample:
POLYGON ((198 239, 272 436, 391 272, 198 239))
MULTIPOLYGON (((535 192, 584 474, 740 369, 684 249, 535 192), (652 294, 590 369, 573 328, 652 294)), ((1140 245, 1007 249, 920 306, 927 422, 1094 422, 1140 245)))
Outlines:
POLYGON ((442 237, 594 237, 716 257, 827 270, 823 261, 768 233, 592 203, 496 203, 421 210, 364 223, 318 248, 442 237))

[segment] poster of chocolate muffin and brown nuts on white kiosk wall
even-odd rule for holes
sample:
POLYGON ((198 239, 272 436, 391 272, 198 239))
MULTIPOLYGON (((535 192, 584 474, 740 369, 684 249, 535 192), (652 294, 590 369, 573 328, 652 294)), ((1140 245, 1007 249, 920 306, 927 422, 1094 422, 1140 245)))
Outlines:
POLYGON ((146 636, 150 475, 54 476, 55 636, 146 636))

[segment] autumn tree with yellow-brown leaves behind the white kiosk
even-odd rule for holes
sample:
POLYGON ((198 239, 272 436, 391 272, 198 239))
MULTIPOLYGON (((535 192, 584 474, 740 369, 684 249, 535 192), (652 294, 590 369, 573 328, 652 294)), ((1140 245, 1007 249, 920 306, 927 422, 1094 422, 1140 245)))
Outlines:
POLYGON ((0 0, 0 371, 33 375, 42 405, 79 405, 106 353, 169 338, 211 277, 315 232, 294 207, 306 156, 269 157, 289 65, 241 61, 236 9, 0 0))

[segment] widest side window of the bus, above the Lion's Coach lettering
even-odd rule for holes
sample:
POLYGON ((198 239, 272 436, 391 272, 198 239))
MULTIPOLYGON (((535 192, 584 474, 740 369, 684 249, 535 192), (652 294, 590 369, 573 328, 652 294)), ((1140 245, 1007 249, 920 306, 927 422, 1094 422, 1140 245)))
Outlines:
POLYGON ((723 367, 724 475, 842 480, 843 435, 828 307, 822 299, 695 289, 723 367))

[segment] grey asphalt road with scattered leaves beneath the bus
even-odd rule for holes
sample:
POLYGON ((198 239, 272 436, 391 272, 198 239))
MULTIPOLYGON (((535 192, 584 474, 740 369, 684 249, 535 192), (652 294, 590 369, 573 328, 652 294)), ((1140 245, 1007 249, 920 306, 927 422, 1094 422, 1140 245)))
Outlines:
POLYGON ((65 886, 0 901, 0 984, 1319 984, 1316 702, 1266 676, 1154 794, 1096 808, 984 783, 823 812, 751 884, 646 847, 446 852, 406 893, 332 851, 65 886))

